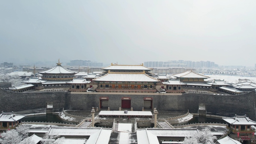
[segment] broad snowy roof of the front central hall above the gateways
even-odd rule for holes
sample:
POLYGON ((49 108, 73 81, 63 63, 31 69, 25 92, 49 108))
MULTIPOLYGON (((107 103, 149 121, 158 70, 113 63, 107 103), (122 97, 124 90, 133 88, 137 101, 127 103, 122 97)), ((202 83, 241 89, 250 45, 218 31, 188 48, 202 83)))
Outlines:
POLYGON ((118 73, 110 72, 102 77, 94 79, 94 81, 104 81, 104 82, 159 82, 158 79, 150 77, 142 73, 118 73))

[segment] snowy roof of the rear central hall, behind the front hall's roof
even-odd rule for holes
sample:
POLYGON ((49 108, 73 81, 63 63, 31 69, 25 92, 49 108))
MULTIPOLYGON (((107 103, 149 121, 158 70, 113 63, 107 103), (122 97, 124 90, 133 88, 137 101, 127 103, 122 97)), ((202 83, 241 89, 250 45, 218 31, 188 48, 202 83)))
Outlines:
POLYGON ((110 66, 101 68, 102 70, 141 70, 141 71, 150 71, 153 70, 151 68, 145 67, 143 64, 141 65, 119 65, 111 63, 110 66))

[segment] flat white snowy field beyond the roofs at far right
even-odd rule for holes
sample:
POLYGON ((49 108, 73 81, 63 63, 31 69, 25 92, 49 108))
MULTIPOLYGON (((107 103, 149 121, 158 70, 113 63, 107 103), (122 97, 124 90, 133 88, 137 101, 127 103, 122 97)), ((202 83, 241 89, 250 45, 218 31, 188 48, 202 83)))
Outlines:
POLYGON ((238 79, 249 79, 253 83, 256 83, 256 77, 243 77, 243 76, 225 76, 225 75, 205 75, 210 78, 205 79, 205 81, 213 80, 213 79, 220 79, 225 80, 227 83, 238 83, 238 79))

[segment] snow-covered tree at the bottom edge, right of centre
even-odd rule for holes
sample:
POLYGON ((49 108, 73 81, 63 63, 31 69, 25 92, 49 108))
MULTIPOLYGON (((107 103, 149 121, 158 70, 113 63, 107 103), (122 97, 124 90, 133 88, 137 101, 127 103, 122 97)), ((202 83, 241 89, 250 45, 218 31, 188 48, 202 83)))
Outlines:
POLYGON ((211 134, 211 129, 204 128, 193 137, 185 138, 184 144, 214 144, 214 140, 216 140, 216 136, 211 134))

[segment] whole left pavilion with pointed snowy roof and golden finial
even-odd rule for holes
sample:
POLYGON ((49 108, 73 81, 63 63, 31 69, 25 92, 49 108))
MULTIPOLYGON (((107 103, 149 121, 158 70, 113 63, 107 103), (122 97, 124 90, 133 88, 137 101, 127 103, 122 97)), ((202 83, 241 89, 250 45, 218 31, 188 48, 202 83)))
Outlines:
POLYGON ((43 80, 73 80, 74 75, 78 72, 68 70, 61 66, 60 59, 57 65, 50 70, 39 72, 43 76, 41 77, 43 80))

